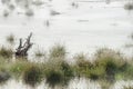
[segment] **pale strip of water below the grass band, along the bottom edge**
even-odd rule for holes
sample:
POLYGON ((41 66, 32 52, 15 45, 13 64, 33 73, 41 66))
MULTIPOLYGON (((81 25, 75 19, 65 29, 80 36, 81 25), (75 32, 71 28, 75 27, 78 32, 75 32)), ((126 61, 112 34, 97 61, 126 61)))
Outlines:
MULTIPOLYGON (((123 89, 123 87, 133 87, 132 80, 119 80, 110 89, 123 89)), ((11 79, 4 85, 0 86, 0 89, 52 89, 45 81, 41 82, 37 87, 32 88, 24 85, 21 80, 11 79)), ((101 89, 101 86, 96 81, 91 81, 85 78, 74 78, 69 82, 68 87, 55 87, 54 89, 101 89)))

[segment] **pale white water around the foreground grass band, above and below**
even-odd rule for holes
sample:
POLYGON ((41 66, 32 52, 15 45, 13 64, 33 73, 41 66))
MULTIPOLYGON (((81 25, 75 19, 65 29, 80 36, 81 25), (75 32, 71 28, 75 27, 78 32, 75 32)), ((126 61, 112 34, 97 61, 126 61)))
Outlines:
MULTIPOLYGON (((13 0, 12 0, 13 1, 13 0)), ((124 4, 132 0, 40 0, 41 6, 31 6, 34 14, 27 17, 25 9, 17 6, 10 11, 0 2, 0 44, 6 44, 6 36, 13 33, 25 38, 33 32, 34 42, 31 51, 40 48, 49 50, 54 43, 66 47, 70 56, 84 52, 92 56, 99 48, 111 48, 131 56, 132 51, 125 48, 130 43, 133 32, 133 11, 124 9, 124 4), (111 2, 109 2, 111 1, 111 2), (74 2, 75 6, 72 6, 74 2), (3 17, 4 11, 8 17, 3 17), (52 14, 52 11, 59 14, 52 14)), ((13 3, 13 2, 12 2, 13 3)), ((73 79, 69 89, 101 89, 98 82, 86 79, 73 79), (90 87, 90 83, 92 87, 90 87)), ((113 89, 126 81, 117 81, 113 89)), ((42 82, 37 89, 49 89, 42 82)), ((9 80, 0 89, 29 89, 21 81, 9 80)))

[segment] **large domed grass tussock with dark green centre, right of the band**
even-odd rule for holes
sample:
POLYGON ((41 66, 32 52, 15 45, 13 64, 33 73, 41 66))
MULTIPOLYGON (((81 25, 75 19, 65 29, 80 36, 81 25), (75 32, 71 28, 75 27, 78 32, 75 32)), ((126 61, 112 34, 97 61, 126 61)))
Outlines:
POLYGON ((119 52, 111 49, 99 50, 95 55, 95 66, 98 68, 103 68, 103 70, 105 71, 104 78, 109 81, 114 81, 115 75, 126 63, 119 52))

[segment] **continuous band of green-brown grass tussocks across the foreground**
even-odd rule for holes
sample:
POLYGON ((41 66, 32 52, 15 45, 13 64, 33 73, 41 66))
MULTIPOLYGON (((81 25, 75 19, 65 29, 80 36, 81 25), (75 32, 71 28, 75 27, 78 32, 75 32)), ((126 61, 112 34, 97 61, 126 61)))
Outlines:
MULTIPOLYGON (((75 63, 65 61, 65 48, 54 46, 45 62, 30 62, 17 59, 14 62, 4 59, 12 56, 9 49, 0 49, 0 71, 8 71, 12 78, 22 78, 24 83, 35 86, 43 79, 53 88, 66 86, 73 77, 85 77, 100 81, 102 89, 108 89, 117 79, 132 79, 133 61, 126 60, 120 52, 112 49, 100 49, 90 60, 84 53, 74 56, 75 63)), ((38 52, 41 56, 41 52, 38 52)))

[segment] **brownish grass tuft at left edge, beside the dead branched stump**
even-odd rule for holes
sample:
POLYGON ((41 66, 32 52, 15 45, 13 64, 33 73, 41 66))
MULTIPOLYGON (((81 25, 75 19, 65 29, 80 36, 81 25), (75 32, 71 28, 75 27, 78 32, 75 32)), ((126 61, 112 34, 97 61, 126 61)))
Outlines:
POLYGON ((0 56, 3 58, 12 58, 13 51, 6 47, 0 48, 0 56))

